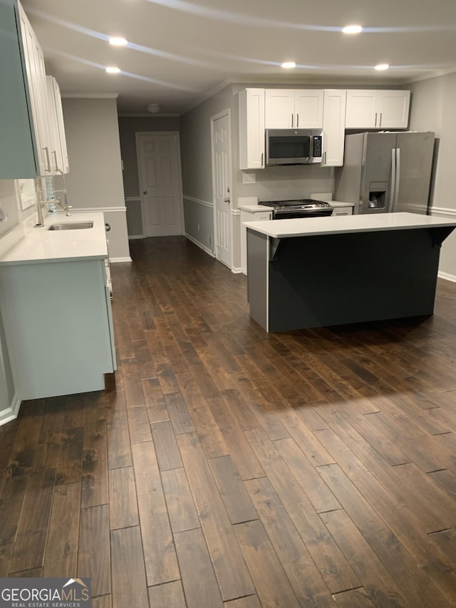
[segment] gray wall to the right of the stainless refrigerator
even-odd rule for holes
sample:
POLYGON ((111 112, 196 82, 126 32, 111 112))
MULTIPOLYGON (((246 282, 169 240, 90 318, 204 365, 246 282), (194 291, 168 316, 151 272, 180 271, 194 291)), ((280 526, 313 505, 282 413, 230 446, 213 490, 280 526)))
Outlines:
MULTIPOLYGON (((438 138, 432 215, 456 217, 456 73, 412 83, 410 130, 435 131, 438 138)), ((442 246, 440 272, 456 280, 456 235, 442 246)))

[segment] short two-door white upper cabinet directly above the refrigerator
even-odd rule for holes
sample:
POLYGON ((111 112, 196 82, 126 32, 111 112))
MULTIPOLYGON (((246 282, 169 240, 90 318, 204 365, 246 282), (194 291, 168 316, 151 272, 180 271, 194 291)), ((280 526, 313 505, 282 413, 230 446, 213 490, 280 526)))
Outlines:
POLYGON ((347 129, 406 129, 410 91, 347 91, 347 129))

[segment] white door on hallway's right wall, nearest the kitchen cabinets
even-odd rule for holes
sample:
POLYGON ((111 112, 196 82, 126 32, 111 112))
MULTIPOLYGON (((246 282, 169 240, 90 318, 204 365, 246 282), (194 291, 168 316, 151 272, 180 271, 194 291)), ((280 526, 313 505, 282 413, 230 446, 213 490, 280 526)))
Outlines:
POLYGON ((229 110, 211 118, 215 256, 232 267, 232 172, 229 110))

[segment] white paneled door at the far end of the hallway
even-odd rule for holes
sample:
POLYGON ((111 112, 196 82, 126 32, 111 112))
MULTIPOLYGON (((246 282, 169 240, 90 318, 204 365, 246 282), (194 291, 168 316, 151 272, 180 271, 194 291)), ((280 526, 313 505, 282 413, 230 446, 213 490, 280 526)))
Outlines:
POLYGON ((177 133, 136 133, 145 237, 182 235, 182 181, 177 133))

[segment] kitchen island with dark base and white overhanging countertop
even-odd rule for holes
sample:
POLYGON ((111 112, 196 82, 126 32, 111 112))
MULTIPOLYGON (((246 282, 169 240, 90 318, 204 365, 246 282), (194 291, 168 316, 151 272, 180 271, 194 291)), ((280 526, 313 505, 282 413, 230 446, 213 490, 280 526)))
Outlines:
POLYGON ((414 213, 246 222, 250 316, 266 331, 430 315, 456 220, 414 213))

